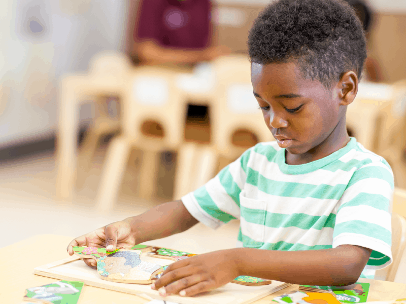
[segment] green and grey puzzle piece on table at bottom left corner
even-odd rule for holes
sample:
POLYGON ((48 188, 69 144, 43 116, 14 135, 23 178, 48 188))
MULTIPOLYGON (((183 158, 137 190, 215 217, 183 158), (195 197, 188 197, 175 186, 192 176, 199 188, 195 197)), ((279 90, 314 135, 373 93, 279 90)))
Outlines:
POLYGON ((76 304, 83 282, 59 281, 25 290, 24 301, 43 304, 76 304))

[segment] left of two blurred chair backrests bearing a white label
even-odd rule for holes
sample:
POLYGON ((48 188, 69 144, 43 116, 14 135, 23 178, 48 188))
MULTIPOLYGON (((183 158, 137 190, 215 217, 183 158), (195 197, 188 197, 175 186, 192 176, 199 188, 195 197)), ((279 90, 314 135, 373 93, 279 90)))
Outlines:
POLYGON ((133 69, 126 85, 128 103, 123 105, 122 110, 123 130, 127 134, 141 140, 144 138, 142 124, 155 121, 163 127, 161 144, 176 148, 182 143, 187 100, 175 85, 177 73, 162 66, 133 69))

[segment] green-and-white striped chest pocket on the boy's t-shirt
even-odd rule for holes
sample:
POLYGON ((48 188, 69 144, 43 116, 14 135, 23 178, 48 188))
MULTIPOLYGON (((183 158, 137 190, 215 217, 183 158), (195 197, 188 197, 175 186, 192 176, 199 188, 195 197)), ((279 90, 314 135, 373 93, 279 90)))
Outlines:
POLYGON ((241 233, 243 246, 260 248, 264 244, 266 202, 247 198, 240 193, 241 233))

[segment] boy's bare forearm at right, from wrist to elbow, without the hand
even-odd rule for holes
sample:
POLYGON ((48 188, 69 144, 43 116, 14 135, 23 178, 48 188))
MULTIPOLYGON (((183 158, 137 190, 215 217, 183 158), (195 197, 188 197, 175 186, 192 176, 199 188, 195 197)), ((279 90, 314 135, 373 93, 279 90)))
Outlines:
POLYGON ((305 285, 349 285, 364 269, 371 249, 341 245, 333 249, 275 251, 236 249, 240 275, 305 285))

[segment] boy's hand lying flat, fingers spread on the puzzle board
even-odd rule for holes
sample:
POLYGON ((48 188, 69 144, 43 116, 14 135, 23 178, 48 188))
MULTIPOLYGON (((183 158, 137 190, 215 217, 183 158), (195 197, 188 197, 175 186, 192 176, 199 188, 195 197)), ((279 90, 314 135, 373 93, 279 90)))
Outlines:
POLYGON ((235 251, 221 250, 195 255, 171 264, 151 288, 161 288, 159 290, 161 296, 176 293, 181 296, 192 296, 218 288, 238 276, 238 259, 235 251))

